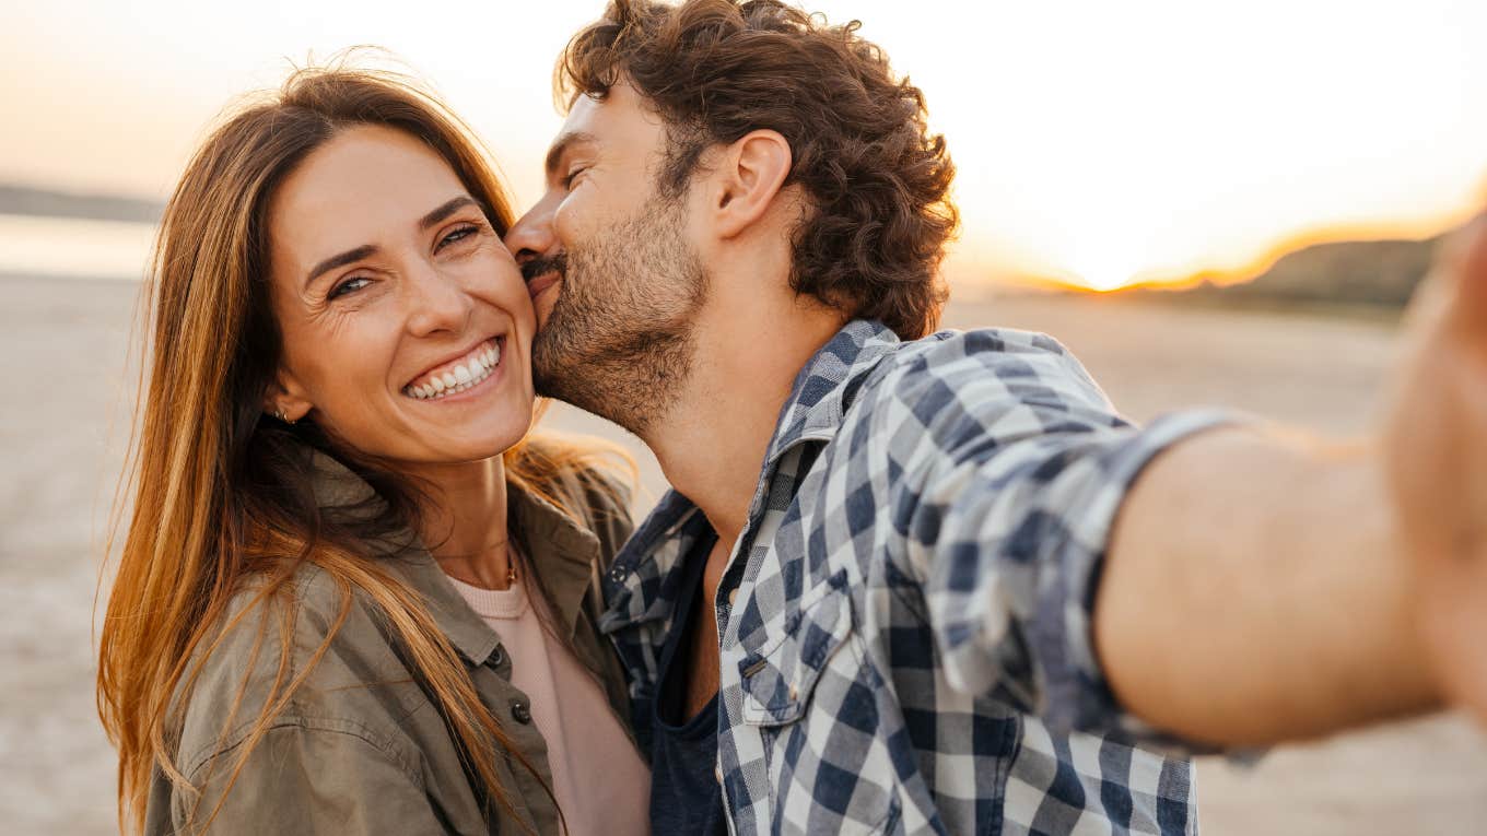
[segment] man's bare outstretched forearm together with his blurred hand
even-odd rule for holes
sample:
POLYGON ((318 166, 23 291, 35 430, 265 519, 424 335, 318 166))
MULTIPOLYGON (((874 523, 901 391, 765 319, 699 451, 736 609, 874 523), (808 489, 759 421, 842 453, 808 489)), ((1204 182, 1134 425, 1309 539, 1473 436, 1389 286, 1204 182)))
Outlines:
POLYGON ((1100 668, 1127 711, 1219 744, 1442 698, 1487 717, 1484 222, 1453 239, 1407 336, 1367 446, 1210 433, 1136 482, 1094 608, 1100 668), (1170 591, 1161 605, 1154 588, 1170 591))

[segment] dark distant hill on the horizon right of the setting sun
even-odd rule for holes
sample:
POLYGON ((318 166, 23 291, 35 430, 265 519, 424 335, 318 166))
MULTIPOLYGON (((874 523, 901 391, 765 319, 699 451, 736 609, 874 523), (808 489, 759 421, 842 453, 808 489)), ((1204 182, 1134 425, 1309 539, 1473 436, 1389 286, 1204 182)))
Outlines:
POLYGON ((1172 300, 1252 303, 1257 306, 1402 308, 1430 269, 1441 238, 1423 241, 1338 241, 1282 256, 1265 272, 1240 284, 1209 277, 1185 290, 1138 290, 1172 300))

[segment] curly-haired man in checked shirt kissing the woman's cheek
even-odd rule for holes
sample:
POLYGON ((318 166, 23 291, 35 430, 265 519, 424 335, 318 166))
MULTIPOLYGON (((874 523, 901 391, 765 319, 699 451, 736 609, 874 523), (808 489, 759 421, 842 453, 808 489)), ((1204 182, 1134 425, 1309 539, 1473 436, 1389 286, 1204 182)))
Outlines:
POLYGON ((616 0, 559 70, 549 190, 507 244, 538 387, 675 488, 601 625, 657 833, 1190 833, 1188 763, 1133 741, 1438 702, 1410 589, 1466 570, 1404 555, 1481 546, 1480 318, 1425 327, 1477 364, 1407 375, 1367 449, 1138 430, 1050 338, 926 336, 953 167, 854 27, 616 0))

